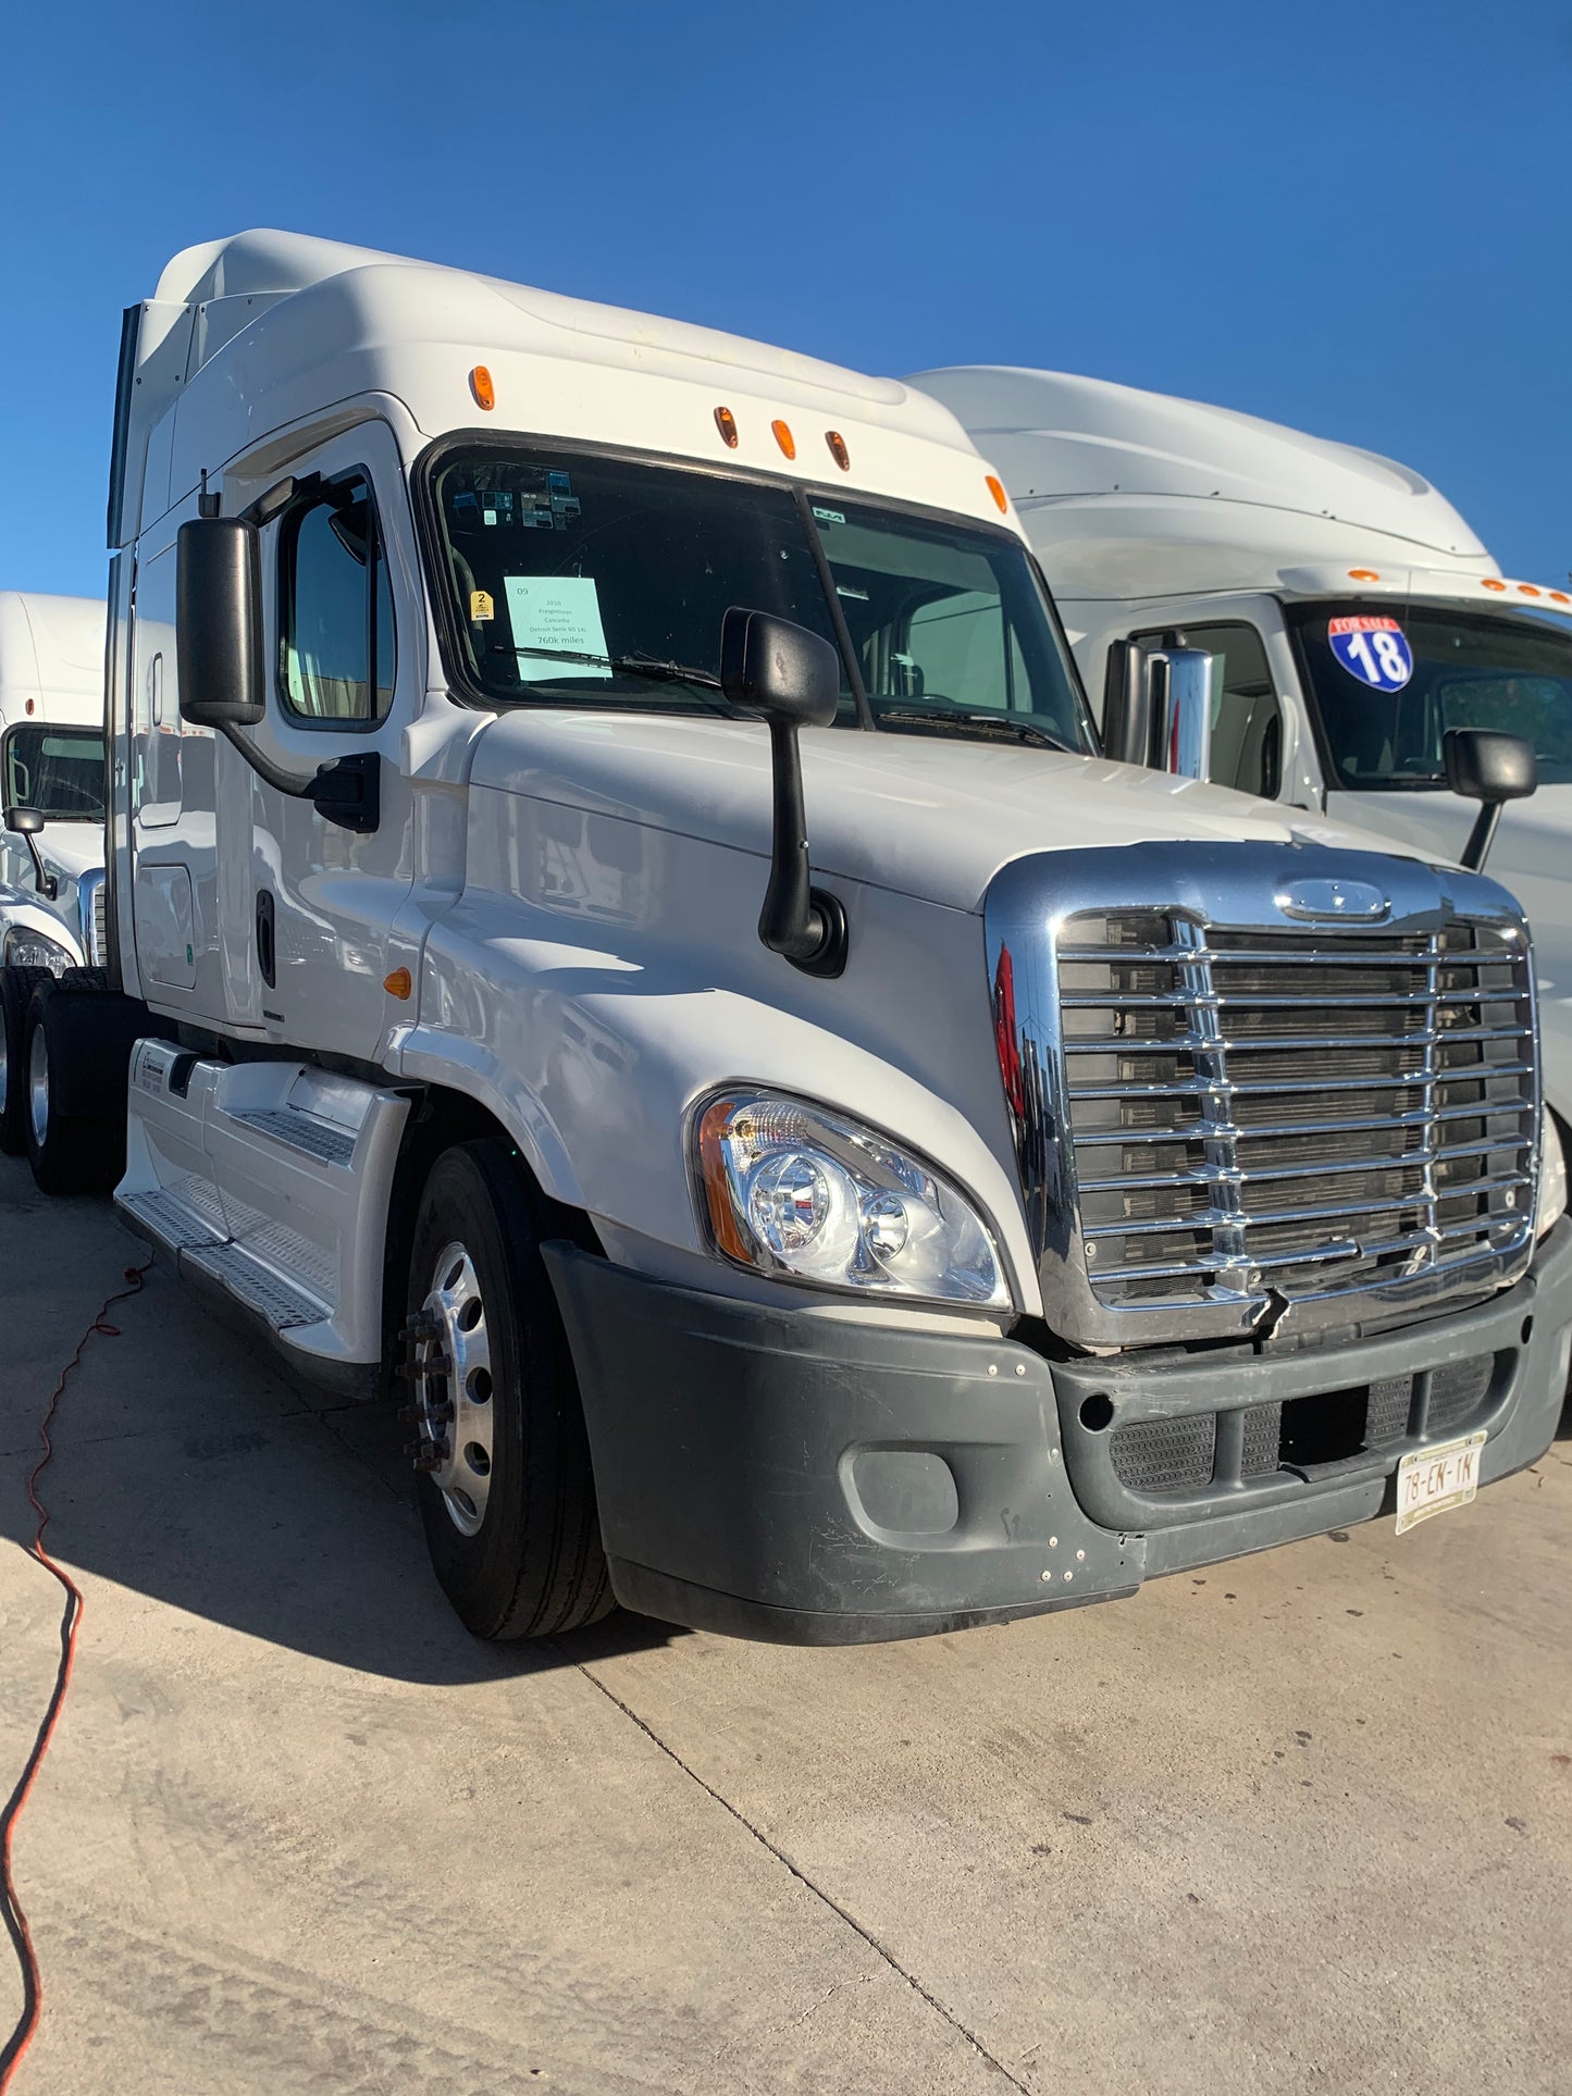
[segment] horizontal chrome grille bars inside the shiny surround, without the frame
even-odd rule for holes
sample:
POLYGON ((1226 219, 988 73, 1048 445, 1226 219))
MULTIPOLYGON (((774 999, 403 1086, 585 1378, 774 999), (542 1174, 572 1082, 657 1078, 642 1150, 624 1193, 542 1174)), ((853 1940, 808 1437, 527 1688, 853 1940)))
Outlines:
POLYGON ((1098 1302, 1364 1289, 1522 1235, 1534 1044, 1509 929, 1088 912, 1061 931, 1058 987, 1098 1302))

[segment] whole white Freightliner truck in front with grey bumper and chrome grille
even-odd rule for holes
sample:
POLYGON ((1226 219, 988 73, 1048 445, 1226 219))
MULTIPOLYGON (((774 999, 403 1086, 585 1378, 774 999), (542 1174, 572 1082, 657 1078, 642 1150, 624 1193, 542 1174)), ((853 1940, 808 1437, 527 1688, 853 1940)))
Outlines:
POLYGON ((247 233, 126 314, 111 543, 46 1121, 136 1040, 124 1216, 402 1381, 478 1635, 920 1635, 1545 1450, 1515 903, 1102 761, 931 400, 247 233))

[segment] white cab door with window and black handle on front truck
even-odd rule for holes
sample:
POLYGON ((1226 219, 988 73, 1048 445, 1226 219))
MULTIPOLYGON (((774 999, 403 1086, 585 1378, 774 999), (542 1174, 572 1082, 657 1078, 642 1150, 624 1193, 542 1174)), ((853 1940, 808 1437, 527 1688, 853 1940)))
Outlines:
POLYGON ((413 524, 392 432, 363 423, 291 461, 293 499, 262 534, 266 719, 258 755, 308 782, 371 757, 379 815, 356 834, 220 750, 220 912, 233 1019, 371 1061, 386 1031, 388 941, 411 889, 402 734, 425 681, 413 524))

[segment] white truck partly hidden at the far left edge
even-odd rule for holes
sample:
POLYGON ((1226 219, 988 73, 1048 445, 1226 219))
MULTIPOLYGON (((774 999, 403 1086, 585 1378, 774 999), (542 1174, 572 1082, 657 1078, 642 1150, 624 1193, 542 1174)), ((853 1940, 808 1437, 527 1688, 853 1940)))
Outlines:
POLYGON ((0 1151, 25 1149, 38 970, 105 954, 105 606, 0 589, 0 1151))

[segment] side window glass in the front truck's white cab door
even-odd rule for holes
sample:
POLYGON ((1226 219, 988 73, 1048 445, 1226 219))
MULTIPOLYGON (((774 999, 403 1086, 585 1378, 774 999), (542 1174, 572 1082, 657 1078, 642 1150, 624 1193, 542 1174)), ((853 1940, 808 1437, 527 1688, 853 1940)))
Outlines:
POLYGON ((394 620, 363 474, 298 503, 279 528, 279 694, 306 727, 375 725, 392 706, 394 620))

